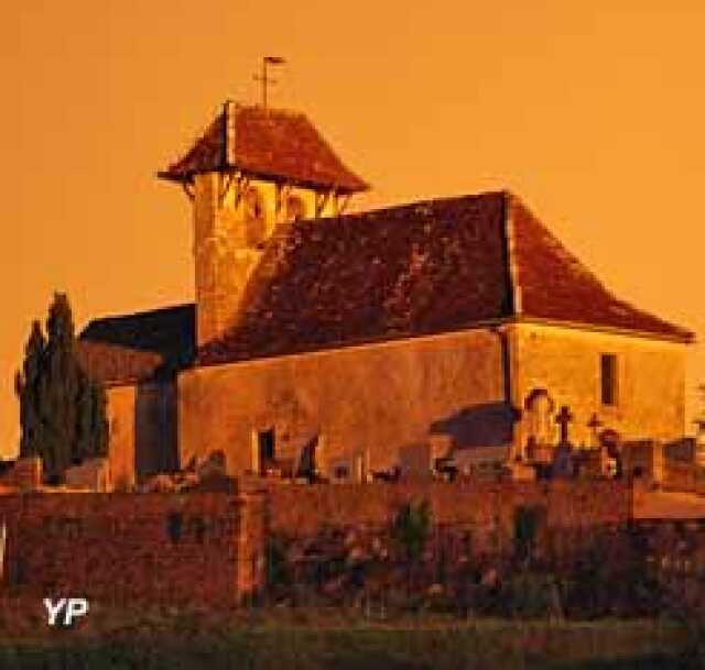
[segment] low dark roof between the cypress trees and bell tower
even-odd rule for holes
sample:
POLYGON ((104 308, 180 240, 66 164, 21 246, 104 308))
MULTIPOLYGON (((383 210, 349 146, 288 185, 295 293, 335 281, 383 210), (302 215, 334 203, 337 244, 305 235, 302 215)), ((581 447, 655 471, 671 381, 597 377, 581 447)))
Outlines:
POLYGON ((141 381, 193 362, 193 304, 95 319, 80 333, 78 355, 105 383, 141 381))

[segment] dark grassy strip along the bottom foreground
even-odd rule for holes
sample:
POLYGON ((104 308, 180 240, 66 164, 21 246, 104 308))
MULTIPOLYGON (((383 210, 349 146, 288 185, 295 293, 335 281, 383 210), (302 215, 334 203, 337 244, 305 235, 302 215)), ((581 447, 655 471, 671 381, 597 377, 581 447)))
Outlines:
POLYGON ((672 623, 394 622, 300 612, 208 618, 143 613, 109 629, 0 633, 8 670, 646 670, 695 669, 704 658, 672 623))

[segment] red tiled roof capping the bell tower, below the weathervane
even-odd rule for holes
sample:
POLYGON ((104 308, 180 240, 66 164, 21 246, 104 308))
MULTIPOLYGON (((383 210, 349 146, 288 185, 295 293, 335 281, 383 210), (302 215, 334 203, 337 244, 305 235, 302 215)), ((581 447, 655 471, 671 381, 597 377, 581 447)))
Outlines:
POLYGON ((195 144, 159 176, 191 182, 195 174, 229 168, 340 193, 369 188, 304 114, 232 103, 226 103, 195 144))

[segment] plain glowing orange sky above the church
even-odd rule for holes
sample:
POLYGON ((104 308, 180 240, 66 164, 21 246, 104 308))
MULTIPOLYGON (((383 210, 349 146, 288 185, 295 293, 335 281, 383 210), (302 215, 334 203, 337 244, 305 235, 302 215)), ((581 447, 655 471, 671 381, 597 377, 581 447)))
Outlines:
POLYGON ((55 289, 79 327, 192 299, 188 202, 154 173, 225 98, 258 100, 263 54, 290 59, 271 103, 310 114, 365 206, 511 188, 620 297, 705 336, 703 35, 699 0, 4 7, 0 453, 55 289))

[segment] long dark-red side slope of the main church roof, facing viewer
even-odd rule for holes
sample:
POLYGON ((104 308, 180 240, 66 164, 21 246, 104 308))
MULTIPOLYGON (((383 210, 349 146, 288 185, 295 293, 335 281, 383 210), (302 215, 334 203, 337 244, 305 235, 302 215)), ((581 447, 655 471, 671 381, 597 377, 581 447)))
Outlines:
MULTIPOLYGON (((240 326, 200 361, 438 332, 509 316, 501 194, 291 224, 240 326)), ((276 233, 275 233, 276 235, 276 233)))

